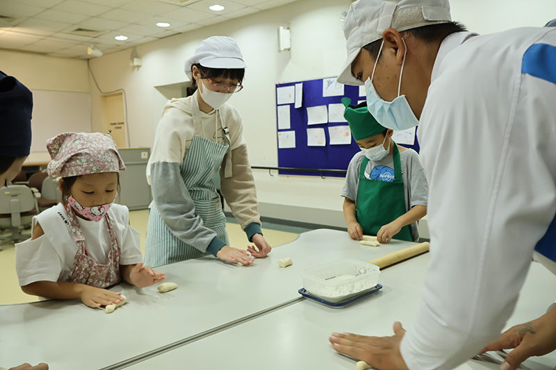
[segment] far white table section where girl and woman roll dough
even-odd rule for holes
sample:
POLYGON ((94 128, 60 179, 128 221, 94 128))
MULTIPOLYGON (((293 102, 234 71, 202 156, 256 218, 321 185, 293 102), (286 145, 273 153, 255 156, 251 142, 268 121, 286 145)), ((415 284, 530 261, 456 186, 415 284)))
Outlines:
MULTIPOLYGON (((345 232, 313 230, 273 249, 267 258, 255 260, 251 267, 238 267, 212 257, 159 267, 158 271, 166 273, 166 281, 177 283, 178 289, 161 294, 156 286, 138 289, 117 285, 113 290, 127 296, 129 303, 112 314, 88 308, 81 301, 0 306, 1 366, 47 362, 56 370, 108 367, 174 342, 221 330, 234 321, 264 314, 299 298, 301 272, 308 267, 344 258, 373 260, 414 244, 393 241, 378 248, 362 247, 345 232), (293 259, 293 265, 279 268, 277 261, 286 257, 293 259)), ((384 276, 389 274, 385 272, 384 276)), ((422 278, 416 280, 420 282, 422 278)), ((409 302, 418 295, 418 289, 409 283, 404 289, 385 280, 384 292, 373 299, 409 302), (397 293, 391 294, 394 287, 397 293), (411 297, 406 298, 401 292, 409 292, 411 297)), ((294 306, 306 304, 309 303, 294 306)), ((314 310, 327 309, 316 306, 314 310)), ((245 351, 250 342, 253 341, 245 343, 247 347, 241 344, 246 355, 251 352, 245 351)), ((209 348, 206 351, 210 353, 209 348)), ((252 353, 247 358, 250 356, 252 353)))

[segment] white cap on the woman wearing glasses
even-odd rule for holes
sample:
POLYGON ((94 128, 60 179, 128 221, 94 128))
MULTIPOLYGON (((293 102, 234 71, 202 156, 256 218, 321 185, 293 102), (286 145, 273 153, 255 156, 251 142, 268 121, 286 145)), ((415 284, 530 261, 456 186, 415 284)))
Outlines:
POLYGON ((193 79, 191 67, 199 63, 206 68, 241 69, 247 67, 236 41, 231 37, 208 37, 195 49, 195 55, 186 60, 186 75, 193 79))

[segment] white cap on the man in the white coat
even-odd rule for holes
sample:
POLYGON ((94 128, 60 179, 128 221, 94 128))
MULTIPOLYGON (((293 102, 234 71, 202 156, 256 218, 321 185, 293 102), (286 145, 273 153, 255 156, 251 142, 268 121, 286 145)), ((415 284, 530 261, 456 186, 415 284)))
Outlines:
POLYGON ((448 0, 357 0, 350 6, 343 24, 347 60, 337 81, 363 85, 352 76, 352 62, 366 44, 382 39, 387 28, 411 28, 450 22, 448 0))

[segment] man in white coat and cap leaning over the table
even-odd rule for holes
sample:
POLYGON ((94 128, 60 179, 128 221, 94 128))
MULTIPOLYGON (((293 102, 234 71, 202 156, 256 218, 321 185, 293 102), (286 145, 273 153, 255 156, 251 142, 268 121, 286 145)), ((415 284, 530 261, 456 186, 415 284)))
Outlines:
POLYGON ((382 126, 419 124, 431 262, 407 333, 335 333, 334 348, 382 370, 452 369, 515 348, 500 366, 514 370, 554 351, 556 307, 500 331, 532 257, 556 274, 556 29, 483 36, 451 22, 448 0, 358 0, 344 34, 338 82, 364 83, 382 126))

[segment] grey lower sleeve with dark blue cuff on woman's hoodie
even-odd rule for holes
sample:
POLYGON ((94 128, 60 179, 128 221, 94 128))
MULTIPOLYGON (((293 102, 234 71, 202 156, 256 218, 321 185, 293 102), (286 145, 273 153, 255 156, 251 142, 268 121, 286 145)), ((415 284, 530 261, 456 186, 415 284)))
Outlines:
POLYGON ((181 241, 202 252, 216 255, 224 242, 195 214, 195 203, 183 183, 179 163, 155 162, 151 165, 152 195, 166 227, 181 241))

